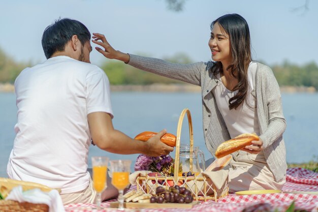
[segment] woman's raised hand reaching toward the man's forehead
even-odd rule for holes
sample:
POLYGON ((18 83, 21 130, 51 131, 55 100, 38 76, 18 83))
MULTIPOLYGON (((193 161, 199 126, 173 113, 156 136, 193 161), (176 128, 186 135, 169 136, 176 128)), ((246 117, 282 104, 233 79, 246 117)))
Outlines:
POLYGON ((100 47, 95 47, 97 51, 102 53, 106 58, 109 59, 118 59, 123 61, 124 63, 128 63, 130 56, 129 54, 122 53, 120 51, 115 50, 106 40, 105 36, 99 33, 93 33, 92 40, 93 43, 100 45, 105 50, 100 47))

